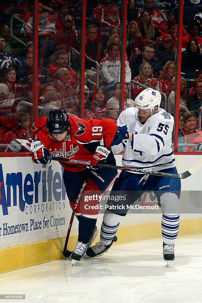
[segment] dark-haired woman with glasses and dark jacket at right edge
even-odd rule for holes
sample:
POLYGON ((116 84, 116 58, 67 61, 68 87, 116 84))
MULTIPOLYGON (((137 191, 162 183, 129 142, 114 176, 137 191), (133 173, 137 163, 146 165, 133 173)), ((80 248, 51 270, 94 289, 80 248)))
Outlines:
POLYGON ((202 106, 202 79, 195 80, 193 87, 196 92, 189 96, 187 108, 189 111, 199 111, 202 106))

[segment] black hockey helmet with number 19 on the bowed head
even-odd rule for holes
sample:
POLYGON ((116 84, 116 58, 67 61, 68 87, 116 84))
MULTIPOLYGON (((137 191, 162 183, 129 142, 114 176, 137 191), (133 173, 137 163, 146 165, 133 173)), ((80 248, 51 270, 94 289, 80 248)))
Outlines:
POLYGON ((50 134, 62 134, 69 129, 69 118, 63 108, 52 109, 49 112, 47 128, 50 134))

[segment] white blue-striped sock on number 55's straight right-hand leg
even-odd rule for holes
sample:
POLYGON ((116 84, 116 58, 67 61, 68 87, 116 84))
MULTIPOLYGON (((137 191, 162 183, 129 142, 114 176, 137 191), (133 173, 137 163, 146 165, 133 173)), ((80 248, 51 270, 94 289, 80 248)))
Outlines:
POLYGON ((161 232, 163 242, 174 244, 180 227, 180 215, 162 215, 161 232))

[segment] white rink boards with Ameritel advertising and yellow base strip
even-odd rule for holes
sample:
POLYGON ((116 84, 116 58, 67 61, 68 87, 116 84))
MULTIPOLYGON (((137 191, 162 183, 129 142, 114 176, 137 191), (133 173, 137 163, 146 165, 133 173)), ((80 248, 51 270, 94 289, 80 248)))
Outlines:
MULTIPOLYGON (((178 155, 178 173, 191 168, 200 156, 178 155)), ((121 155, 116 155, 121 165, 121 155)), ((182 205, 180 235, 200 234, 202 230, 202 169, 182 181, 182 197, 189 197, 190 207, 182 205), (195 200, 197 200, 195 203, 195 200)), ((184 200, 184 198, 182 198, 184 200)), ((186 202, 187 203, 187 202, 186 202)), ((137 208, 124 217, 117 233, 117 243, 161 238, 161 211, 141 210, 157 205, 156 197, 144 194, 137 208)), ((57 162, 37 165, 31 157, 2 158, 0 163, 0 273, 62 258, 62 249, 71 209, 57 162), (8 261, 9 260, 9 261, 8 261)), ((102 214, 98 216, 100 228, 102 214)), ((77 239, 77 221, 72 226, 70 247, 77 239)), ((99 237, 95 239, 98 241, 99 237)))

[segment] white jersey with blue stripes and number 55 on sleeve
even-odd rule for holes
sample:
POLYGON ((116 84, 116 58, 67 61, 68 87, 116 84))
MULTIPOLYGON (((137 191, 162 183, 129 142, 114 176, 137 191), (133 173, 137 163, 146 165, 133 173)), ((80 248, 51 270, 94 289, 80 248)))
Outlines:
POLYGON ((123 166, 159 171, 175 166, 171 148, 174 118, 163 108, 142 124, 137 107, 126 108, 121 112, 117 125, 126 124, 133 134, 132 142, 112 147, 113 153, 124 151, 123 166))

